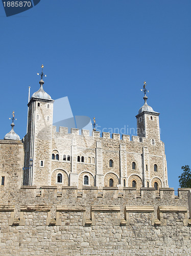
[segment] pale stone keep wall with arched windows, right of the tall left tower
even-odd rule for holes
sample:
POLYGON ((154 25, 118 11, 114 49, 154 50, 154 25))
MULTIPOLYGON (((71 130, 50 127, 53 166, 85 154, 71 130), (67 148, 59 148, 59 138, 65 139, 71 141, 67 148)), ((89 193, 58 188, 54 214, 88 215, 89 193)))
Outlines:
POLYGON ((98 132, 93 132, 93 136, 87 135, 88 131, 83 130, 82 134, 85 135, 79 135, 77 129, 72 129, 71 134, 67 132, 65 127, 60 127, 59 132, 56 132, 56 127, 53 127, 52 153, 55 155, 58 153, 59 160, 51 160, 51 172, 56 169, 64 170, 69 176, 70 185, 73 185, 71 177, 73 179, 75 177, 77 181, 75 180, 74 185, 81 186, 83 182, 81 178, 79 180, 79 176, 76 177, 76 174, 88 172, 93 176, 93 184, 99 187, 108 186, 109 180, 105 178, 108 173, 118 177, 118 181, 114 182, 116 185, 123 186, 124 178, 128 181, 129 177, 137 175, 144 182, 144 186, 147 186, 147 182, 152 186, 153 178, 158 178, 162 187, 168 186, 164 144, 161 141, 155 140, 153 145, 150 138, 142 138, 140 141, 137 136, 133 136, 130 141, 125 136, 121 140, 120 135, 117 134, 113 134, 111 139, 109 133, 103 133, 103 137, 99 137, 98 132), (66 157, 69 155, 70 161, 67 159, 64 161, 63 155, 66 157), (78 156, 80 159, 83 156, 84 162, 78 162, 78 156), (113 160, 113 167, 109 167, 110 159, 113 160), (135 169, 132 169, 132 162, 136 163, 135 169), (157 164, 157 172, 154 172, 154 164, 157 164), (72 176, 73 174, 75 176, 72 176))

